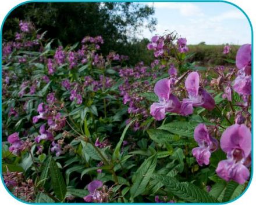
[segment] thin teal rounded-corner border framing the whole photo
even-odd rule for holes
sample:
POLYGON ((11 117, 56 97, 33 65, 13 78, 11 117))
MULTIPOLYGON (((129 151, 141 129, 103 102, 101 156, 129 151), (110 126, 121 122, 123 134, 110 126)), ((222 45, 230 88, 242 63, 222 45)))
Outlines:
MULTIPOLYGON (((200 2, 204 2, 204 3, 212 3, 212 2, 215 2, 215 3, 227 3, 229 5, 232 5, 234 6, 235 8, 239 9, 240 12, 242 12, 244 14, 244 16, 246 16, 246 19, 248 20, 248 23, 250 24, 250 28, 251 28, 251 45, 252 45, 252 53, 251 53, 251 56, 252 56, 252 90, 251 90, 251 123, 252 123, 252 129, 251 129, 251 142, 252 142, 252 149, 251 149, 251 157, 252 157, 252 160, 251 160, 251 177, 250 177, 250 181, 248 182, 248 185, 246 187, 246 189, 244 190, 243 193, 241 193, 241 195, 237 196, 235 199, 233 200, 230 200, 228 202, 221 202, 221 203, 190 203, 190 204, 227 204, 227 203, 232 203, 234 202, 235 200, 239 199, 241 196, 244 195, 244 193, 247 191, 247 189, 249 188, 249 186, 251 185, 251 181, 253 180, 253 171, 254 171, 254 163, 253 163, 253 159, 254 159, 254 150, 253 150, 253 122, 254 122, 254 96, 253 96, 253 90, 254 90, 254 84, 253 84, 253 75, 254 75, 254 69, 253 69, 253 63, 254 63, 254 59, 253 59, 253 54, 254 54, 254 32, 253 32, 253 25, 251 24, 251 20, 249 19, 248 15, 246 14, 246 12, 244 12, 243 9, 241 9, 239 6, 237 6, 236 4, 232 3, 232 2, 228 2, 228 1, 221 1, 221 0, 130 0, 130 1, 126 1, 126 0, 102 0, 102 1, 93 1, 93 0, 29 0, 29 1, 26 1, 26 2, 22 2, 22 3, 19 3, 19 5, 16 5, 15 7, 13 7, 9 12, 8 14, 6 14, 5 18, 3 19, 3 22, 1 23, 1 30, 0 30, 0 39, 1 39, 1 45, 0 45, 0 63, 2 65, 2 30, 3 30, 3 24, 5 24, 5 21, 6 19, 8 18, 9 14, 15 10, 17 7, 21 6, 21 5, 24 5, 26 3, 37 3, 37 2, 45 2, 45 3, 48 3, 48 2, 195 2, 195 3, 200 3, 200 2)), ((0 95, 1 95, 1 107, 0 107, 0 116, 1 116, 1 122, 2 122, 2 67, 1 67, 1 74, 0 74, 0 80, 1 80, 1 85, 0 85, 0 95)), ((2 130, 2 123, 0 123, 0 129, 2 130)), ((0 139, 2 141, 2 131, 1 131, 1 134, 0 134, 0 139)), ((5 186, 5 183, 3 181, 3 176, 2 176, 2 147, 0 148, 0 158, 1 158, 1 163, 0 163, 0 175, 1 175, 1 180, 2 180, 2 183, 3 183, 3 186, 5 186)), ((16 200, 18 200, 19 202, 22 202, 22 203, 25 203, 25 204, 56 204, 56 203, 30 203, 30 202, 25 202, 19 198, 17 198, 16 196, 14 196, 12 194, 12 192, 9 191, 9 189, 5 186, 5 189, 6 191, 13 197, 15 198, 16 200)), ((57 204, 87 204, 87 203, 57 203, 57 204)), ((94 204, 111 204, 111 203, 94 203, 94 204)), ((149 204, 149 203, 113 203, 113 204, 149 204)), ((162 203, 152 203, 152 204, 162 204, 162 203)), ((187 203, 178 203, 178 204, 187 204, 187 203)))

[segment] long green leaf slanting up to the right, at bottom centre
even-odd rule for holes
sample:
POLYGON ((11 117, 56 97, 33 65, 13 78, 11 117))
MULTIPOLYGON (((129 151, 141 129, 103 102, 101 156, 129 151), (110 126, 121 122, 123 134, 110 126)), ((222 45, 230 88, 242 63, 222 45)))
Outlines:
POLYGON ((148 182, 150 181, 151 174, 154 172, 157 166, 157 155, 153 155, 146 159, 135 173, 134 184, 130 189, 130 200, 140 195, 145 191, 148 182))

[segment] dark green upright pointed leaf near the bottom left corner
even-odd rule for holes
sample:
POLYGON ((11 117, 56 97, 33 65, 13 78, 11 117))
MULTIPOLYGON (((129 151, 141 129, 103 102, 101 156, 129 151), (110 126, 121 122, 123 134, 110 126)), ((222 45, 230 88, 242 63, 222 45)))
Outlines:
POLYGON ((63 176, 61 174, 61 171, 59 170, 59 167, 56 164, 54 159, 50 160, 49 170, 51 173, 51 182, 52 182, 52 187, 54 188, 54 193, 56 197, 58 197, 58 199, 62 201, 65 199, 67 188, 66 188, 63 176))

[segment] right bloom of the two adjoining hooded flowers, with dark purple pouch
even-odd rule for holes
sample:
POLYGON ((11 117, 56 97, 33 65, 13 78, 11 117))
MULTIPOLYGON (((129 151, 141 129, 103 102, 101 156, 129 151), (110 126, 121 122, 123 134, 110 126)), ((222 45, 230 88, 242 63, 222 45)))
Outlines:
POLYGON ((181 113, 189 115, 193 113, 192 107, 203 107, 211 111, 215 107, 214 98, 200 86, 200 78, 197 72, 191 72, 185 81, 185 87, 189 98, 182 101, 181 113))

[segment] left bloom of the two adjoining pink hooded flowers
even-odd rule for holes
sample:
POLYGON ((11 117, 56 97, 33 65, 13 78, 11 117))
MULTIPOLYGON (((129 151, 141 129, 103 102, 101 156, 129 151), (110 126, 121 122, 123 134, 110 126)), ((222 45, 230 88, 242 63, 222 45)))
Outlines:
POLYGON ((170 94, 170 80, 167 78, 159 80, 154 87, 154 92, 159 102, 154 102, 150 107, 150 114, 156 120, 165 118, 165 112, 180 112, 180 101, 176 96, 170 94))

